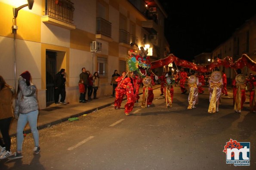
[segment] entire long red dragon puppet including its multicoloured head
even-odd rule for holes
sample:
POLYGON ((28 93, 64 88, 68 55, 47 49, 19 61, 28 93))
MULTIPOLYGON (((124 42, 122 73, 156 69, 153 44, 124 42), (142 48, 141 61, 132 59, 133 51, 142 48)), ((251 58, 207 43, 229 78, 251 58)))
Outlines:
POLYGON ((166 66, 170 63, 175 63, 176 66, 181 66, 189 69, 193 69, 197 72, 211 72, 215 67, 224 66, 225 68, 242 69, 247 66, 252 71, 256 72, 256 62, 250 59, 247 54, 243 54, 236 62, 233 62, 232 57, 225 57, 223 60, 217 58, 212 63, 204 66, 198 66, 187 60, 179 59, 178 57, 170 54, 168 57, 150 62, 150 58, 147 56, 148 51, 144 50, 143 47, 138 48, 137 45, 133 45, 133 49, 128 51, 129 56, 127 57, 127 67, 130 72, 134 72, 142 78, 148 74, 151 69, 166 66))

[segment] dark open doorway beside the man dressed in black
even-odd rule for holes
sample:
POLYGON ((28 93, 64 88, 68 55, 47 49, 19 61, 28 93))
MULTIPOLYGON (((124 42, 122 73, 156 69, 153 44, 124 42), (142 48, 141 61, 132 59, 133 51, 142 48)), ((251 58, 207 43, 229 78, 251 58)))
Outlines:
POLYGON ((46 106, 54 103, 54 76, 56 74, 56 51, 46 51, 46 106))

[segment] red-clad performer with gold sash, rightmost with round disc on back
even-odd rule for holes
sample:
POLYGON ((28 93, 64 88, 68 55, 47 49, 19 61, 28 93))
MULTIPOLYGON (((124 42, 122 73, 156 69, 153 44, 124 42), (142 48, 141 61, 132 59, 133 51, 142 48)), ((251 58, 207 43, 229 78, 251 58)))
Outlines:
POLYGON ((241 113, 243 104, 245 101, 245 87, 246 79, 242 74, 241 69, 237 69, 237 75, 232 82, 233 92, 234 92, 234 110, 235 112, 241 113))

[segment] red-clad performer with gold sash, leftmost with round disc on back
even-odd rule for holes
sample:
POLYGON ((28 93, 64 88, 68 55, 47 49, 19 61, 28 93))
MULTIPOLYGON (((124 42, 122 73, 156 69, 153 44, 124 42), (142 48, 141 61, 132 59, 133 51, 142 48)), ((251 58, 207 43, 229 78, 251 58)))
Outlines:
POLYGON ((146 76, 143 78, 143 96, 142 96, 142 105, 141 107, 150 107, 154 99, 153 88, 151 84, 151 78, 146 76))

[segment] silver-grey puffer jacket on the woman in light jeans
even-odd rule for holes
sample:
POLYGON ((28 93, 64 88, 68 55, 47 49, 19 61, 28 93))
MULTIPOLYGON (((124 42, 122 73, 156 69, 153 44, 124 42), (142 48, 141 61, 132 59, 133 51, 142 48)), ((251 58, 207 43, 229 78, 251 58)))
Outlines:
POLYGON ((38 110, 37 87, 30 83, 27 86, 24 79, 19 80, 19 93, 16 98, 14 114, 26 114, 38 110))

